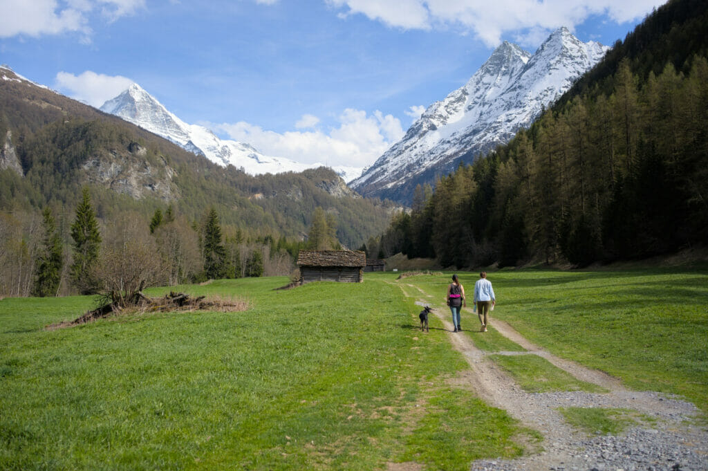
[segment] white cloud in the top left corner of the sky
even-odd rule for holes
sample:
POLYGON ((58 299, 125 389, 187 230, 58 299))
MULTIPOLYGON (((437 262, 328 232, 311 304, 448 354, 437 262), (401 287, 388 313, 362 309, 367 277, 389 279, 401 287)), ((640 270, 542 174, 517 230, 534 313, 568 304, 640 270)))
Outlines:
POLYGON ((91 34, 91 13, 100 12, 109 21, 132 15, 144 8, 145 0, 2 0, 0 38, 16 35, 91 34))

